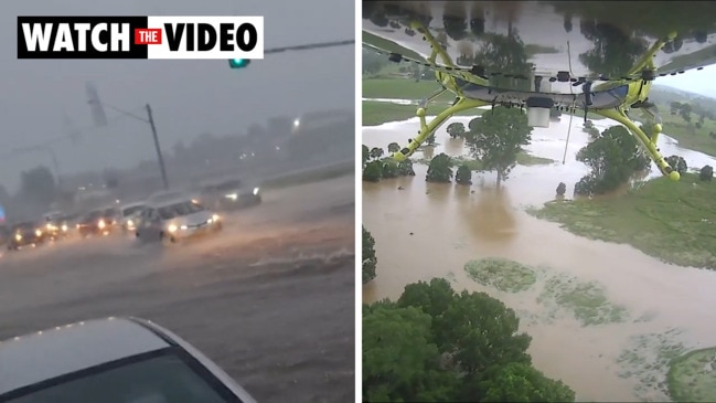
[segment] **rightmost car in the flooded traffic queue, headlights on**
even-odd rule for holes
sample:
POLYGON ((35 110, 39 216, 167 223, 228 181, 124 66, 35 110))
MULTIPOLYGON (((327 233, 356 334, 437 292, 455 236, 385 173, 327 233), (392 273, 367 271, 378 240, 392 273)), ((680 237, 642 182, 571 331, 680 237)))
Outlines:
POLYGON ((200 200, 216 210, 226 211, 260 204, 261 191, 238 179, 229 179, 204 185, 200 200))

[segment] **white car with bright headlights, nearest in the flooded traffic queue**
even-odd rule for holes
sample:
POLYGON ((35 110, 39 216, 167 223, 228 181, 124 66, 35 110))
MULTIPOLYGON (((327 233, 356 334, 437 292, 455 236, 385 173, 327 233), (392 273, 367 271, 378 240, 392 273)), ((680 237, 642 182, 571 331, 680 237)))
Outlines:
POLYGON ((139 218, 136 236, 141 241, 175 243, 223 227, 221 218, 197 200, 179 198, 149 204, 139 218))

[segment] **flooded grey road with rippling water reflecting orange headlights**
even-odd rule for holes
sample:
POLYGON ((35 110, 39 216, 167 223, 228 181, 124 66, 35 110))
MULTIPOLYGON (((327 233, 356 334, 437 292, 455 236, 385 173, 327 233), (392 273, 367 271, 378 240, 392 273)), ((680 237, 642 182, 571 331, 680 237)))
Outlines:
POLYGON ((258 401, 352 401, 353 194, 352 176, 267 191, 225 216, 218 236, 189 244, 114 236, 4 253, 0 340, 137 316, 196 346, 258 401))

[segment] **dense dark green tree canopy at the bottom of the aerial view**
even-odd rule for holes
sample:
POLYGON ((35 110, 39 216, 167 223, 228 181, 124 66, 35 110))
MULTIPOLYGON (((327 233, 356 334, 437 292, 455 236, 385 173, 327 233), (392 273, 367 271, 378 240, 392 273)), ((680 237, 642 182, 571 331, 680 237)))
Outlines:
POLYGON ((574 402, 532 367, 514 310, 442 278, 363 306, 363 396, 371 402, 574 402))

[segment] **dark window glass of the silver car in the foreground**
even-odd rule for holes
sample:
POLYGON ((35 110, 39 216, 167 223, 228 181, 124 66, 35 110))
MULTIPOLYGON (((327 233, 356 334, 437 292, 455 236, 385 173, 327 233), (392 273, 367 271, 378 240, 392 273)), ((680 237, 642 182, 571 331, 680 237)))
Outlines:
MULTIPOLYGON (((235 400, 238 401, 238 400, 235 400)), ((167 354, 89 373, 9 403, 226 403, 180 357, 167 354)))

